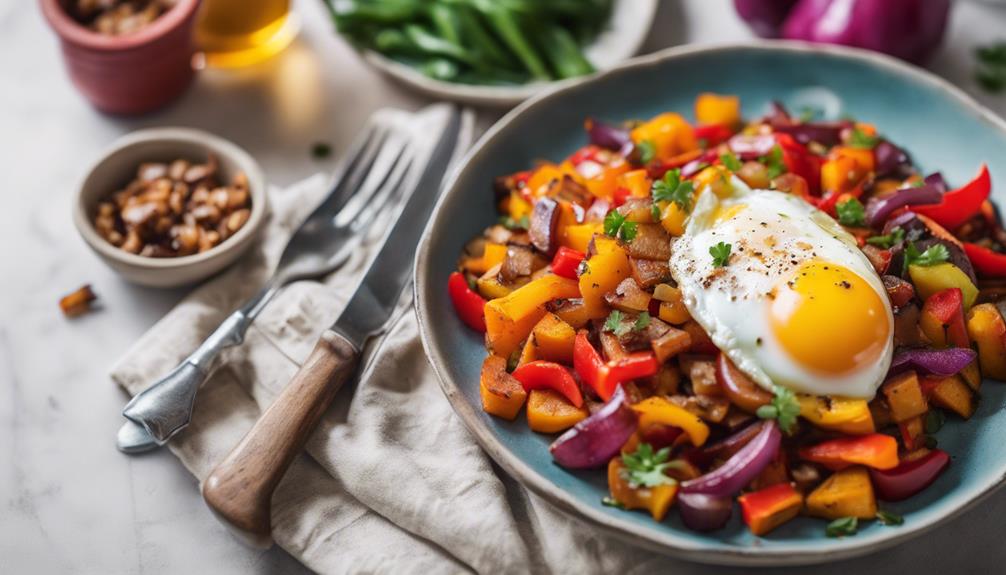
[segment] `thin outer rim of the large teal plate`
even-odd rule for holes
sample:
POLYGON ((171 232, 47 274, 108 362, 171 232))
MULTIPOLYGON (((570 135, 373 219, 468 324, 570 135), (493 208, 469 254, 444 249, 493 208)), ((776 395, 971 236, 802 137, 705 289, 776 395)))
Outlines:
MULTIPOLYGON (((950 81, 930 72, 907 64, 901 60, 872 52, 861 48, 853 48, 837 45, 811 44, 802 41, 792 40, 758 40, 746 42, 728 42, 704 45, 683 45, 674 46, 660 50, 644 56, 638 56, 627 60, 617 66, 601 71, 591 76, 574 78, 552 89, 541 92, 520 106, 514 108, 499 121, 493 124, 479 138, 478 142, 465 155, 461 162, 452 169, 444 182, 443 193, 434 208, 433 215, 427 223, 427 227, 420 240, 416 249, 413 268, 413 296, 415 299, 415 313, 420 331, 420 339, 427 359, 437 374, 441 389, 450 401, 454 411, 461 417, 479 445, 493 458, 506 472, 520 483, 522 486, 534 492, 549 504, 559 508, 564 513, 583 521, 586 524, 612 535, 622 541, 650 549, 672 557, 695 561, 705 564, 729 565, 729 566, 795 566, 811 565, 849 559, 881 551, 899 543, 913 539, 937 527, 942 522, 959 517, 963 513, 980 504, 993 493, 1006 484, 1006 461, 1000 464, 998 478, 982 486, 977 493, 967 497, 966 501, 950 509, 945 514, 933 514, 909 526, 901 526, 897 530, 890 530, 889 535, 882 535, 879 538, 863 545, 855 545, 854 540, 849 540, 850 545, 845 547, 832 548, 827 550, 808 550, 801 547, 783 546, 774 549, 762 547, 736 547, 736 548, 709 548, 708 544, 702 542, 689 542, 680 540, 680 536, 673 533, 661 533, 655 530, 645 530, 640 526, 627 520, 622 520, 604 514, 592 508, 585 508, 576 500, 552 484, 547 477, 538 472, 534 467, 525 463, 516 454, 512 453, 495 436, 492 429, 485 425, 480 419, 474 407, 462 395, 460 386, 454 382, 447 374, 446 365, 448 358, 441 353, 434 344, 434 336, 427 329, 430 316, 427 310, 427 302, 432 298, 428 291, 428 270, 429 261, 432 257, 430 244, 435 228, 435 220, 438 219, 444 204, 455 194, 447 193, 454 189, 462 172, 475 159, 484 153, 488 142, 496 138, 500 133, 509 128, 515 119, 523 115, 532 108, 543 106, 560 94, 583 89, 585 85, 600 81, 602 78, 611 78, 632 70, 639 70, 648 67, 657 67, 665 60, 679 57, 693 56, 698 54, 731 52, 737 50, 767 51, 767 52, 789 52, 789 53, 810 53, 824 54, 833 57, 852 59, 866 65, 878 66, 887 70, 892 70, 898 74, 906 75, 919 82, 928 84, 930 87, 941 90, 945 95, 962 106, 966 111, 976 116, 980 121, 989 124, 992 128, 999 130, 1006 135, 1006 120, 1003 120, 991 110, 980 104, 977 100, 969 95, 962 88, 954 85, 950 81)), ((714 539, 714 538, 710 538, 714 539)))

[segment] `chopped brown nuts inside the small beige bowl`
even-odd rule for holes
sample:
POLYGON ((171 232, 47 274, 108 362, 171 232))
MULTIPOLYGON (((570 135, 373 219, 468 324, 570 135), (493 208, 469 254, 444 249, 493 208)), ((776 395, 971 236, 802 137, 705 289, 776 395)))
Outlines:
POLYGON ((98 204, 95 229, 109 243, 146 257, 176 257, 212 249, 252 217, 244 174, 219 181, 219 164, 145 162, 124 189, 98 204))

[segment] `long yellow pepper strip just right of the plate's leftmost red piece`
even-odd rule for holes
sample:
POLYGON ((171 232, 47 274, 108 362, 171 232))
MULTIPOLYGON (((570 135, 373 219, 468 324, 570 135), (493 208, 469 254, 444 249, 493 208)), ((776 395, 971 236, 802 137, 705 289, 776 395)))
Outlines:
POLYGON ((509 357, 527 339, 552 300, 577 298, 574 279, 549 273, 486 304, 486 341, 496 355, 509 357))

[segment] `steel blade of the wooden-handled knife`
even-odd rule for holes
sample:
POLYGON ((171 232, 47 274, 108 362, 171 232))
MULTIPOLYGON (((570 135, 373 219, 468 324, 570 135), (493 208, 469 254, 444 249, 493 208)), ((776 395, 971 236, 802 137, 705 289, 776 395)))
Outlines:
POLYGON ((444 175, 454 158, 452 151, 461 137, 461 115, 452 108, 443 136, 430 154, 430 163, 415 191, 398 213, 370 268, 331 327, 357 351, 363 349, 367 339, 381 331, 411 280, 415 247, 440 197, 444 175))

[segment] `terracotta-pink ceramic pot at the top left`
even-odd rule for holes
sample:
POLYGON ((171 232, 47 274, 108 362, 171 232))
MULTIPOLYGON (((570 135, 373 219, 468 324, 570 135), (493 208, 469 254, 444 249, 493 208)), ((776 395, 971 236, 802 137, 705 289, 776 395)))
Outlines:
POLYGON ((40 3, 59 36, 70 79, 99 110, 152 112, 178 98, 192 81, 192 27, 199 0, 178 0, 150 25, 124 36, 105 36, 81 26, 60 0, 40 3))

